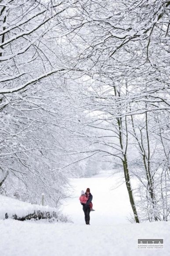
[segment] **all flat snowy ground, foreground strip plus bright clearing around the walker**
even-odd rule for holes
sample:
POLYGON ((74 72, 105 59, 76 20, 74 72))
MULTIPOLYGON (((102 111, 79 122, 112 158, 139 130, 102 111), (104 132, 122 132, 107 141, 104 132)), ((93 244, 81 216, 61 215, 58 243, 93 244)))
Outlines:
POLYGON ((72 180, 75 195, 64 212, 74 223, 0 220, 0 256, 169 256, 170 222, 128 223, 126 188, 123 184, 110 190, 118 182, 108 176, 72 180), (87 187, 96 210, 90 213, 90 226, 85 225, 78 200, 87 187), (164 238, 164 249, 139 250, 137 238, 164 238))

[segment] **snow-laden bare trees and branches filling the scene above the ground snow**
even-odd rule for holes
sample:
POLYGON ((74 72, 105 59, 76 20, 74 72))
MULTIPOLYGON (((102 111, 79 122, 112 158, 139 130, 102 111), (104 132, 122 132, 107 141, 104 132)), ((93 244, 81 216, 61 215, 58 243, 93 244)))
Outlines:
POLYGON ((135 222, 169 220, 169 25, 167 0, 1 0, 0 193, 60 207, 112 169, 135 222))

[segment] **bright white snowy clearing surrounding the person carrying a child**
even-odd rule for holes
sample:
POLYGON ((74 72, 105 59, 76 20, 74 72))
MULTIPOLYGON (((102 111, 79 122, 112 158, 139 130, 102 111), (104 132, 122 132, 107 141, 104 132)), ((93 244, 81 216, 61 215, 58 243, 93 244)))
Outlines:
POLYGON ((118 174, 112 177, 110 173, 101 173, 92 178, 72 179, 71 184, 75 189, 75 194, 72 195, 74 198, 65 203, 63 211, 71 216, 74 223, 83 224, 83 211, 78 199, 81 190, 86 191, 86 188, 90 188, 95 210, 90 213, 93 225, 129 223, 126 218, 132 210, 126 185, 120 182, 121 186, 112 189, 118 186, 119 181, 121 179, 118 174))

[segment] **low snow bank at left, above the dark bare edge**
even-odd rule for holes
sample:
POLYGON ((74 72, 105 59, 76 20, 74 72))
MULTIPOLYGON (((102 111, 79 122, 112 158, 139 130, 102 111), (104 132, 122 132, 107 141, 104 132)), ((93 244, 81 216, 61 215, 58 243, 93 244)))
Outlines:
POLYGON ((14 215, 17 215, 18 218, 23 218, 38 211, 43 213, 49 212, 51 215, 54 212, 57 213, 56 208, 49 207, 48 205, 42 206, 38 204, 25 203, 7 196, 0 195, 0 219, 5 219, 6 214, 8 218, 14 218, 14 215))

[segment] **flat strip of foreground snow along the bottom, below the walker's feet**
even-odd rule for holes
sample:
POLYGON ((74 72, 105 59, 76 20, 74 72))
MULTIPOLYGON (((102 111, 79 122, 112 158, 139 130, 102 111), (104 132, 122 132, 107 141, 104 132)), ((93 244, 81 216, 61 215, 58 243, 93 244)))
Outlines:
POLYGON ((91 225, 0 220, 1 256, 169 256, 170 223, 91 225), (137 238, 164 238, 139 250, 137 238))

